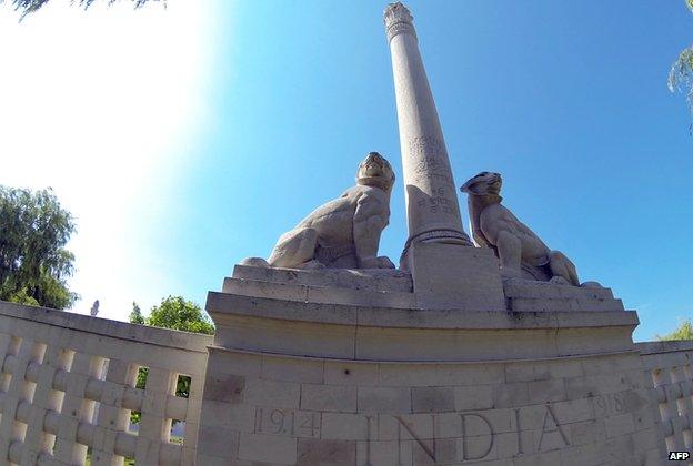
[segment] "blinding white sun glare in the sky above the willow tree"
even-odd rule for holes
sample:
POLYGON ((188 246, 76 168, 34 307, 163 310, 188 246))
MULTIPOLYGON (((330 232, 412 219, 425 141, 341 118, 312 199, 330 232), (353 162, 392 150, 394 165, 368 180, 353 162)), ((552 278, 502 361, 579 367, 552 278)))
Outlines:
POLYGON ((104 3, 52 0, 21 22, 0 6, 0 184, 54 189, 78 223, 74 311, 99 298, 100 316, 125 318, 165 286, 143 267, 155 219, 138 204, 171 189, 203 120, 213 2, 104 3))

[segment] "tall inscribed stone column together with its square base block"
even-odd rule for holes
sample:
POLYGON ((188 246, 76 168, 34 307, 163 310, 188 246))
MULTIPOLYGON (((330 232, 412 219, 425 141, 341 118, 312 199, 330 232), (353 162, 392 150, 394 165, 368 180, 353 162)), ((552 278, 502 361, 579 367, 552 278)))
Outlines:
POLYGON ((412 273, 424 306, 504 308, 498 261, 472 246, 462 227, 456 188, 413 17, 390 3, 384 23, 392 55, 409 239, 400 267, 412 273))

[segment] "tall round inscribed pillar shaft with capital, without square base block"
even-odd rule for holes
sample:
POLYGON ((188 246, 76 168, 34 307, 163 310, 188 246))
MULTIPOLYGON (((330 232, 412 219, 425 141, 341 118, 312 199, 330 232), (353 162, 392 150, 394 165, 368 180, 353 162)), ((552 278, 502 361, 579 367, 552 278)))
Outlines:
POLYGON ((385 9, 409 221, 405 252, 415 242, 471 246, 412 20, 400 2, 385 9))

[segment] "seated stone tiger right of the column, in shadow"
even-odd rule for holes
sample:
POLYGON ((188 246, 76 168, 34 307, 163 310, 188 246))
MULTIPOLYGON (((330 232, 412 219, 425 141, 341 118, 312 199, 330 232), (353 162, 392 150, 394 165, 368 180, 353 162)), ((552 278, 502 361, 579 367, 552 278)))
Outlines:
MULTIPOLYGON (((479 246, 492 247, 505 277, 548 280, 581 286, 575 265, 565 254, 552 251, 501 204, 503 181, 500 173, 481 172, 460 190, 469 195, 472 237, 479 246)), ((595 282, 582 286, 600 286, 595 282)))

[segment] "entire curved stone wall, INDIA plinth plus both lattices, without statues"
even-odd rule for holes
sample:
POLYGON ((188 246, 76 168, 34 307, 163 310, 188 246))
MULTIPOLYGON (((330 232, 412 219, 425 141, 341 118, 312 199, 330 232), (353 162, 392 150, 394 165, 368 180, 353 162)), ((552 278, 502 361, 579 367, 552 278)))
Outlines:
POLYGON ((0 302, 0 464, 83 465, 88 450, 92 465, 203 466, 661 465, 691 453, 693 342, 633 345, 636 315, 609 291, 506 283, 508 312, 426 311, 411 307, 404 275, 235 275, 209 297, 214 344, 0 302), (548 310, 559 302, 593 311, 548 310), (175 396, 180 374, 189 398, 175 396))

